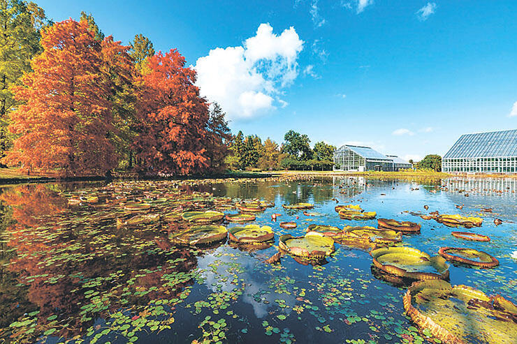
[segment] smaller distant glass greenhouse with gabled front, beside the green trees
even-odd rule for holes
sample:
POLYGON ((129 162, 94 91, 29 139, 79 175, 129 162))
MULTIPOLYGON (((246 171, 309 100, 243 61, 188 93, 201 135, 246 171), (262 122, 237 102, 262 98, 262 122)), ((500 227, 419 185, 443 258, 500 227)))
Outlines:
POLYGON ((334 152, 334 170, 398 171, 412 167, 398 156, 385 156, 370 147, 345 144, 334 152))

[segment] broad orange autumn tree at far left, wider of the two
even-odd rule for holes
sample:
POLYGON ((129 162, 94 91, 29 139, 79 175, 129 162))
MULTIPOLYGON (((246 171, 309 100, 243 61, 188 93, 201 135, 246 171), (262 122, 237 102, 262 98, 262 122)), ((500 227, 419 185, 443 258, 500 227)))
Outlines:
POLYGON ((24 104, 11 114, 17 139, 3 162, 68 176, 104 174, 117 165, 108 137, 115 131, 108 66, 115 55, 129 59, 127 47, 111 37, 96 40, 87 21, 71 19, 45 29, 41 45, 34 71, 12 88, 24 104))

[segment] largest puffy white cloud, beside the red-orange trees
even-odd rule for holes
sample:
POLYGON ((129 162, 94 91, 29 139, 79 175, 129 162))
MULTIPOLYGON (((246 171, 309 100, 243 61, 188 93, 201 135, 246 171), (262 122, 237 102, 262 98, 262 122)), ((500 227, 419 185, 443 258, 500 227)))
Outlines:
POLYGON ((238 47, 217 47, 196 61, 196 85, 201 96, 216 101, 228 119, 250 118, 275 109, 275 98, 298 76, 298 54, 303 49, 296 30, 280 35, 261 24, 256 35, 238 47))

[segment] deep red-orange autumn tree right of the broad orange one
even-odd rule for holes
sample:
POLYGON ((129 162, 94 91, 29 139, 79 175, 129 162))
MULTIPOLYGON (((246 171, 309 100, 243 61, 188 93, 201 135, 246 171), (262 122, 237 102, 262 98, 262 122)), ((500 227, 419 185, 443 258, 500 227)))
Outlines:
POLYGON ((140 170, 191 174, 208 167, 208 105, 199 96, 196 72, 177 50, 147 59, 140 79, 135 150, 140 170))

